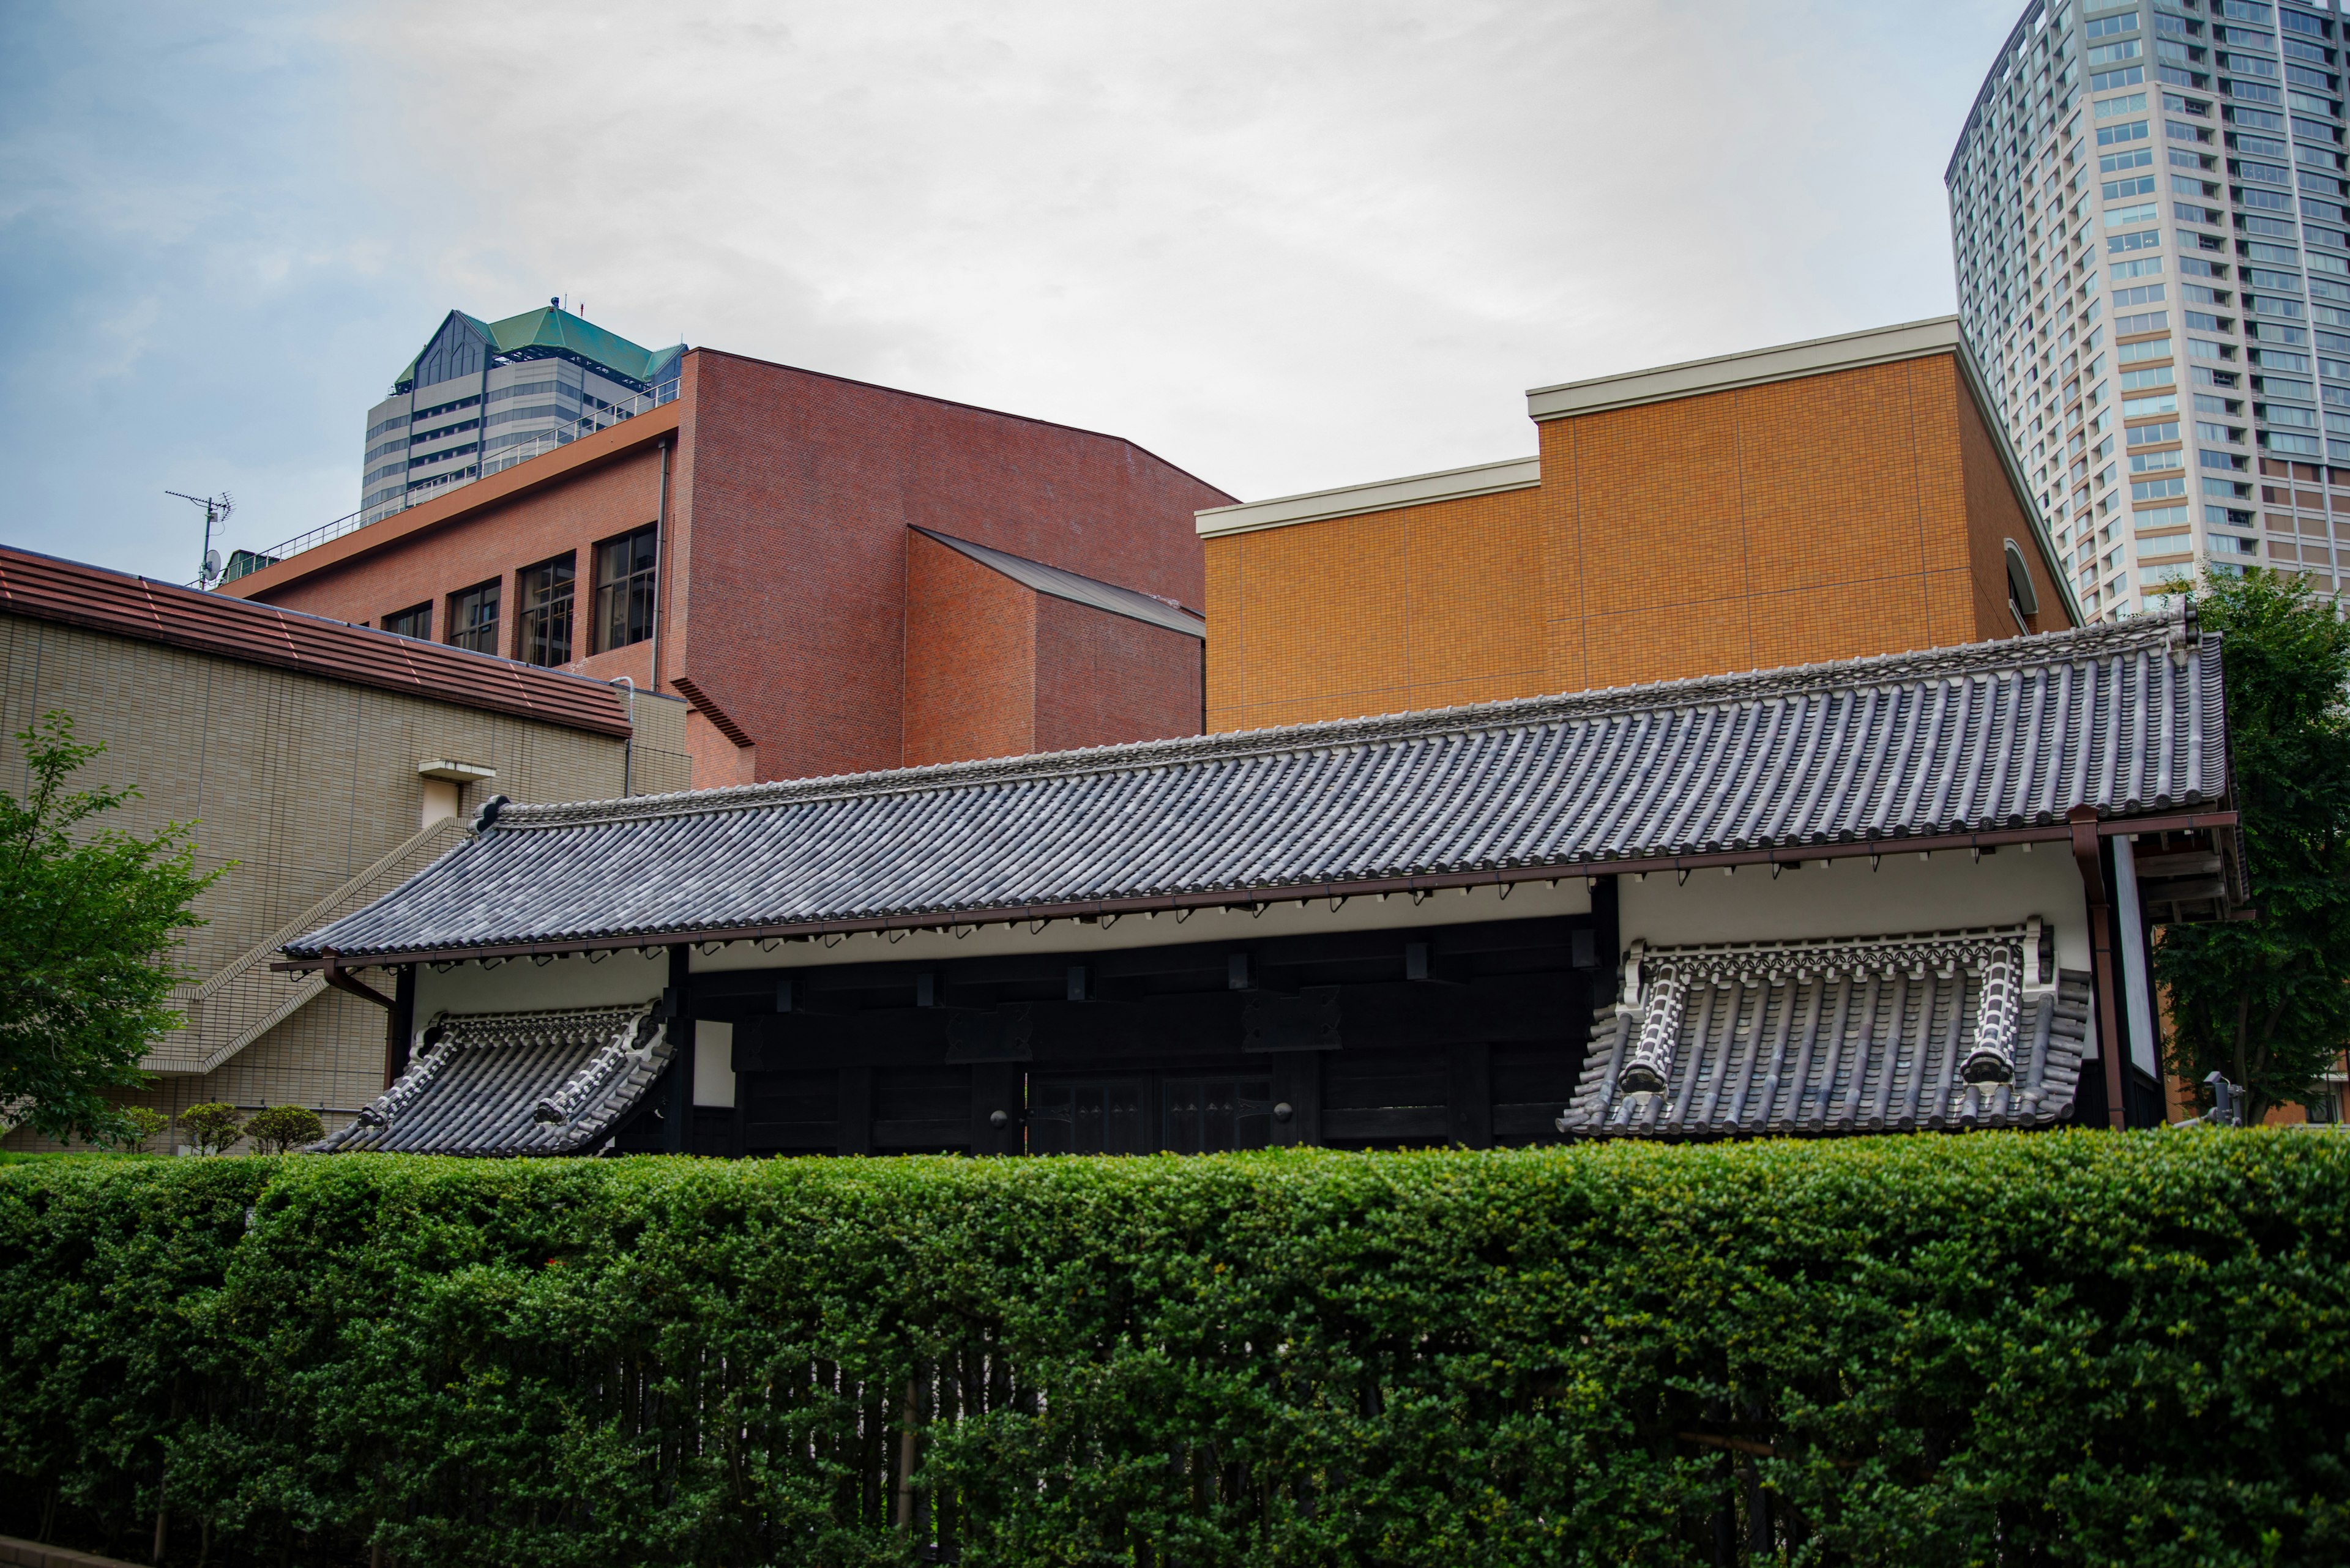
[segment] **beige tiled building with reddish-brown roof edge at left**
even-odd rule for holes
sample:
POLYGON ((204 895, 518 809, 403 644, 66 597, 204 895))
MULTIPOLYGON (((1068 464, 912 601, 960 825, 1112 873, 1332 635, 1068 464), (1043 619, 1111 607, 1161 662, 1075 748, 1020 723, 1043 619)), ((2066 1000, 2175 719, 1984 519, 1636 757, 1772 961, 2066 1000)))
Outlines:
MULTIPOLYGON (((190 823, 228 867, 183 952, 188 1027, 150 1044, 141 1095, 308 1105, 329 1128, 385 1086, 385 1011, 277 945, 400 886, 491 795, 604 799, 686 788, 686 705, 446 644, 0 548, 0 778, 49 710, 103 741, 82 783, 134 785, 113 825, 190 823)), ((362 973, 390 994, 395 983, 362 973)), ((5 1147, 38 1147, 9 1133, 5 1147)))

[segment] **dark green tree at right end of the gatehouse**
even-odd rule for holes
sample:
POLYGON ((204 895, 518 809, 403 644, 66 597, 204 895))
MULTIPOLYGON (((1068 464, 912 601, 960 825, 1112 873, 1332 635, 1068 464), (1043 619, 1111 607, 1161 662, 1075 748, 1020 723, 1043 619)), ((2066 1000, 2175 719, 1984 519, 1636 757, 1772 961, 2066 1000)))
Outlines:
POLYGON ((2167 926, 2171 1072, 2223 1072, 2258 1121, 2303 1100, 2350 1041, 2350 625, 2298 576, 2211 578, 2254 919, 2167 926))

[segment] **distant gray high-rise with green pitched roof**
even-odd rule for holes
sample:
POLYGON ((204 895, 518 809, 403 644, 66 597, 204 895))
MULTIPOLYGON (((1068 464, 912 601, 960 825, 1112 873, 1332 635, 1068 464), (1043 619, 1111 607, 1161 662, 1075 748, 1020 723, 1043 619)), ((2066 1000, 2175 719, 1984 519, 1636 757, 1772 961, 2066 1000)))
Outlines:
POLYGON ((667 402, 686 346, 642 348, 548 301, 484 322, 451 310, 367 411, 360 510, 385 517, 667 402))

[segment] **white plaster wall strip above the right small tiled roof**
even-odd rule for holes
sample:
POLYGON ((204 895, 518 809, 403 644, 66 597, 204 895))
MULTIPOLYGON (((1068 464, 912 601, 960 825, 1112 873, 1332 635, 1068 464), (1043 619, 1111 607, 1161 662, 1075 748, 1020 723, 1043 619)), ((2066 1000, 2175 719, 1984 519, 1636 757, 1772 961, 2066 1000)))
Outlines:
POLYGON ((1619 924, 1624 945, 1770 943, 1824 936, 1885 936, 2012 926, 2037 914, 2056 931, 2056 964, 2089 969, 2089 903, 2066 844, 2030 853, 2009 844, 1974 860, 1967 851, 1932 858, 1889 853, 1875 870, 1866 856, 1807 860, 1774 882, 1767 865, 1741 865, 1734 877, 1692 870, 1622 877, 1619 924))

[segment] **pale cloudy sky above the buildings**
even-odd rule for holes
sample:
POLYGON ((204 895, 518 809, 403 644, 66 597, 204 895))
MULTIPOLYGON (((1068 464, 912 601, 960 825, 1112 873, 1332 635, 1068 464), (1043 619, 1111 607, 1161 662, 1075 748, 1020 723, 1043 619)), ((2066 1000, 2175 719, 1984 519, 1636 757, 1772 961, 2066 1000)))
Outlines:
POLYGON ((1525 456, 1530 386, 1948 313, 2019 9, 14 0, 0 538, 338 517, 442 313, 550 294, 1250 501, 1525 456))

